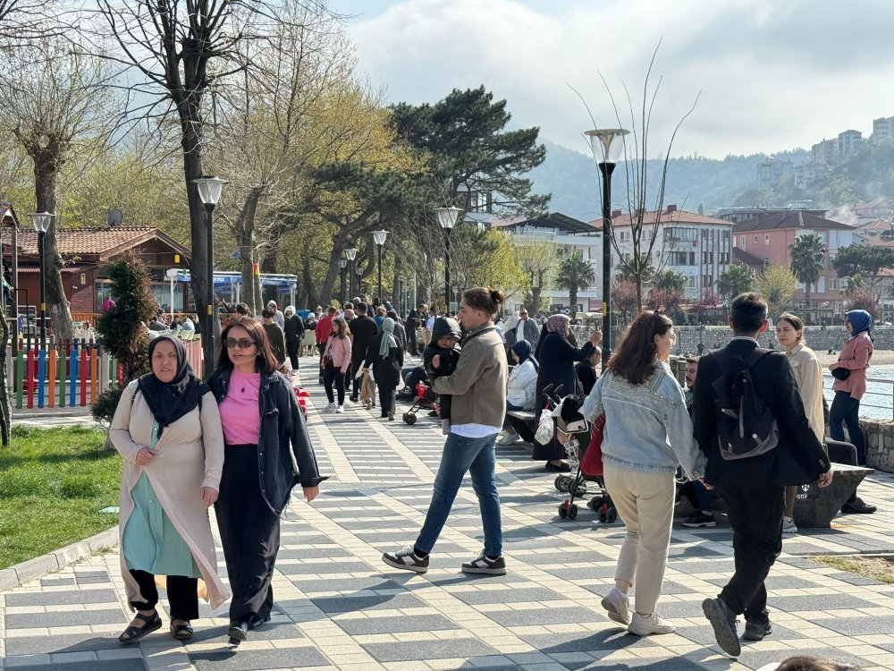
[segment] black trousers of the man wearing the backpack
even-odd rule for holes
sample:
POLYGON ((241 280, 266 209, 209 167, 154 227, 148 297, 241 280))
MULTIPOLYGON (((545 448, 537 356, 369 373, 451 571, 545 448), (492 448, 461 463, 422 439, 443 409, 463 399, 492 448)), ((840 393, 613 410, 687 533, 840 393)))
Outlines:
POLYGON ((767 588, 763 584, 782 551, 785 488, 746 484, 717 488, 732 526, 736 572, 720 598, 746 620, 766 620, 767 588))

